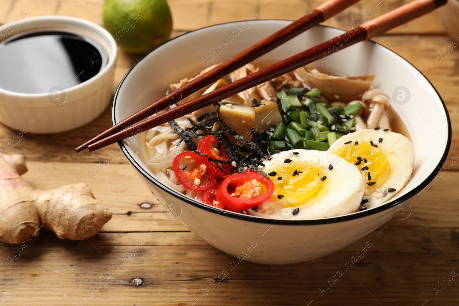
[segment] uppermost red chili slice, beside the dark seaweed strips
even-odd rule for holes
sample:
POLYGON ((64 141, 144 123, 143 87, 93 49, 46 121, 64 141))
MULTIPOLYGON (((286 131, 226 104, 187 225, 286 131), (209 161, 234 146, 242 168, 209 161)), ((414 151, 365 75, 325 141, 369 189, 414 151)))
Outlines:
MULTIPOLYGON (((222 145, 220 150, 218 150, 218 154, 214 150, 214 148, 217 148, 217 147, 218 147, 218 141, 213 136, 207 136, 199 140, 198 150, 202 154, 206 154, 210 158, 220 160, 220 161, 231 161, 231 159, 228 156, 228 153, 226 153, 224 146, 222 145)), ((217 164, 215 162, 209 161, 207 156, 199 156, 199 161, 202 164, 205 164, 207 166, 207 171, 210 174, 213 174, 220 178, 224 177, 225 175, 228 175, 229 171, 231 171, 231 165, 218 163, 218 167, 220 167, 221 169, 227 172, 225 173, 224 171, 218 169, 217 164)))

